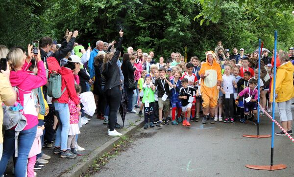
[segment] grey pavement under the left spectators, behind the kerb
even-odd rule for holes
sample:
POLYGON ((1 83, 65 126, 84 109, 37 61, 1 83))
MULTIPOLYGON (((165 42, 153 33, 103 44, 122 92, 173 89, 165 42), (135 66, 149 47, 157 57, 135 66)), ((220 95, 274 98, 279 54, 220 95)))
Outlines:
MULTIPOLYGON (((118 123, 123 125, 121 116, 118 112, 118 123)), ((126 114, 124 126, 128 128, 130 124, 135 123, 136 120, 140 119, 136 114, 126 114)), ((88 124, 83 126, 80 129, 80 134, 78 137, 78 144, 85 148, 85 151, 80 152, 82 156, 77 156, 74 159, 63 159, 60 158, 59 155, 53 155, 53 147, 52 148, 43 148, 43 152, 47 155, 51 156, 49 159, 49 163, 46 164, 41 170, 35 170, 38 177, 58 177, 62 173, 64 173, 67 169, 74 166, 77 162, 83 160, 85 155, 90 154, 92 151, 96 150, 98 147, 103 145, 105 142, 110 140, 112 137, 107 135, 107 126, 103 124, 103 120, 99 120, 96 118, 96 114, 93 116, 91 121, 88 124)), ((121 132, 121 130, 117 130, 121 132)), ((8 177, 13 177, 12 175, 12 160, 8 164, 6 169, 6 173, 8 177)))

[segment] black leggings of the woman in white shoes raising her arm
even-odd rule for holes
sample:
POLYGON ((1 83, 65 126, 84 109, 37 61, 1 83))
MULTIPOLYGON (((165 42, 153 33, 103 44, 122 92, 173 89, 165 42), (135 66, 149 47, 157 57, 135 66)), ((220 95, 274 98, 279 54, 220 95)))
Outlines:
POLYGON ((117 121, 117 112, 122 100, 122 90, 120 86, 107 89, 105 98, 109 105, 108 127, 110 131, 114 131, 114 125, 117 121))

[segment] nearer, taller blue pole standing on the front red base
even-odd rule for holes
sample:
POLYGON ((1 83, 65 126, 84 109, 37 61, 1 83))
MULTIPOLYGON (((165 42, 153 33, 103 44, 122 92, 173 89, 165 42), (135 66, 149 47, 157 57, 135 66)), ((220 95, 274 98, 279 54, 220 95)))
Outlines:
MULTIPOLYGON (((274 31, 274 63, 273 63, 273 90, 272 90, 272 119, 274 120, 275 113, 275 81, 276 81, 276 60, 277 60, 277 38, 278 32, 274 31)), ((271 149, 270 149, 270 166, 273 165, 273 146, 274 146, 274 122, 272 121, 271 126, 271 149)))

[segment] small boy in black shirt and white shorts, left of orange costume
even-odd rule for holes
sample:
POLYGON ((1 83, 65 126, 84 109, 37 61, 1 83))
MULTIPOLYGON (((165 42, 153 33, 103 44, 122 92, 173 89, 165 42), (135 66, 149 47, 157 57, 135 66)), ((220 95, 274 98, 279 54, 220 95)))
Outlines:
POLYGON ((183 126, 190 126, 190 115, 192 103, 194 101, 193 92, 196 92, 196 96, 199 96, 198 89, 193 88, 189 85, 189 81, 187 78, 182 79, 182 88, 180 89, 180 96, 182 103, 182 115, 184 116, 183 126), (186 116, 187 112, 187 116, 186 116))

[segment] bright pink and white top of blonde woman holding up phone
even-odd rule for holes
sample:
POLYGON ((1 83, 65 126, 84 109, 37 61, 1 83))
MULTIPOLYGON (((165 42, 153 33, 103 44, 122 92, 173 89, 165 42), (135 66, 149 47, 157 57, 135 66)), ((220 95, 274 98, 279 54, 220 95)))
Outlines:
MULTIPOLYGON (((24 107, 24 115, 26 117, 26 126, 24 130, 30 129, 38 125, 38 115, 33 102, 31 99, 31 90, 39 88, 47 83, 46 71, 44 63, 38 62, 38 74, 34 75, 33 72, 19 70, 10 72, 10 83, 12 87, 18 87, 20 103, 24 107), (24 106, 24 103, 26 104, 24 106)), ((17 101, 19 102, 18 98, 17 101)))

